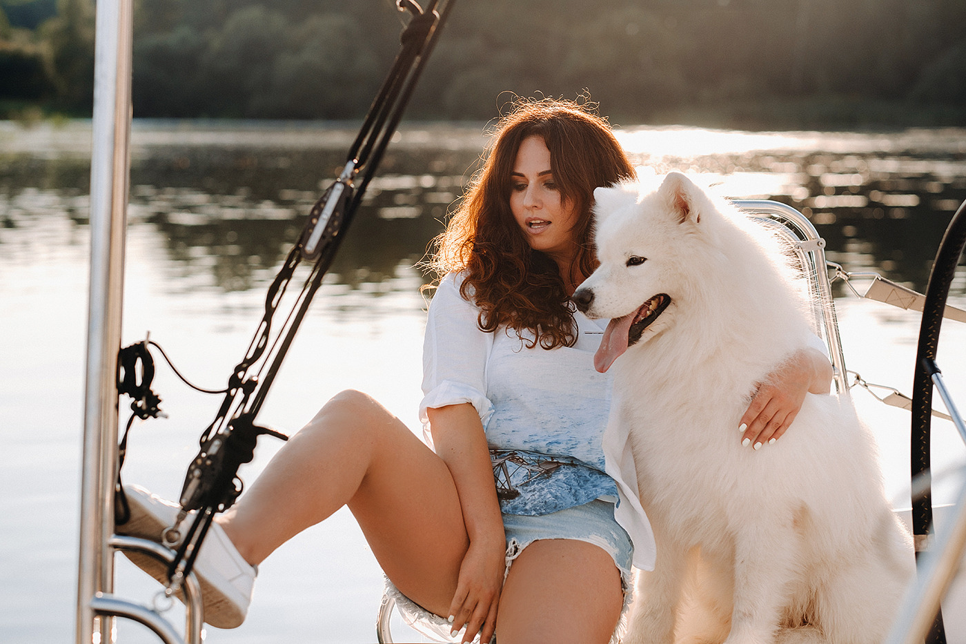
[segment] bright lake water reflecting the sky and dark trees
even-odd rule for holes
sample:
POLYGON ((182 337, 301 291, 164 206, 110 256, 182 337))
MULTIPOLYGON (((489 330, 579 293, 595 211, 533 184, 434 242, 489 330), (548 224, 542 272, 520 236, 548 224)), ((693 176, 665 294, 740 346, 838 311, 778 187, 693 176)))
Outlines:
MULTIPOLYGON (((397 135, 316 297, 259 420, 291 433, 328 396, 375 395, 413 431, 420 397, 424 277, 416 268, 485 142, 482 125, 410 124, 397 135)), ((805 212, 847 270, 923 290, 942 233, 966 198, 966 131, 728 132, 623 127, 644 171, 702 173, 736 197, 805 212)), ((261 319, 265 291, 302 218, 344 164, 342 124, 137 122, 132 134, 123 342, 146 333, 195 383, 223 387, 261 319)), ((68 642, 76 592, 78 489, 88 276, 90 126, 0 123, 0 641, 68 642)), ((297 279, 303 274, 297 274, 297 279)), ((966 268, 952 287, 966 303, 966 268)), ((911 391, 916 313, 837 286, 846 364, 911 391)), ((125 480, 177 496, 218 397, 186 390, 156 356, 166 420, 135 424, 125 480)), ((947 322, 939 351, 966 394, 966 332, 947 322)), ((887 487, 908 505, 907 412, 854 390, 875 429, 887 487)), ((937 398, 938 400, 938 398, 937 398)), ((936 404, 940 404, 937 403, 936 404)), ((966 406, 966 401, 960 406, 966 406)), ((127 401, 122 402, 127 409, 127 401)), ((122 413, 122 422, 127 413, 122 413)), ((933 424, 933 462, 966 450, 933 424)), ((255 478, 279 447, 260 442, 255 478)), ((956 478, 939 475, 950 501, 956 478)), ((262 566, 248 620, 210 642, 375 641, 382 573, 342 511, 262 566)), ((118 591, 155 591, 118 562, 118 591)), ((177 621, 175 622, 178 623, 177 621)), ((120 641, 156 641, 123 623, 120 641)))

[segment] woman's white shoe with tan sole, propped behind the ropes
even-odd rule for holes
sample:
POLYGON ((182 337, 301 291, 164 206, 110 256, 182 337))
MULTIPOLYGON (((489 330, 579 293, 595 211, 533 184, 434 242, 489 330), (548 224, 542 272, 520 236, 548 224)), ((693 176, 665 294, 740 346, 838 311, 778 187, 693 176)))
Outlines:
MULTIPOLYGON (((117 526, 117 533, 162 542, 162 535, 174 526, 181 508, 138 485, 125 485, 124 490, 130 516, 124 525, 117 526)), ((142 571, 167 584, 167 564, 150 555, 122 552, 142 571)), ((251 602, 258 569, 241 557, 224 530, 215 522, 212 522, 205 536, 193 571, 201 584, 205 622, 219 629, 241 626, 251 602)), ((179 599, 183 599, 182 594, 179 594, 179 599)))

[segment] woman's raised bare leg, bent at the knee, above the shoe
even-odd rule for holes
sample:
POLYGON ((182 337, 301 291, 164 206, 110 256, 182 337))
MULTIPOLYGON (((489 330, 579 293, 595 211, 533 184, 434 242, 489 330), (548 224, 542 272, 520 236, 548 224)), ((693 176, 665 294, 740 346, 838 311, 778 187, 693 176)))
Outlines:
POLYGON ((456 486, 442 459, 368 395, 329 400, 218 522, 258 564, 347 504, 396 587, 445 616, 469 546, 456 486))

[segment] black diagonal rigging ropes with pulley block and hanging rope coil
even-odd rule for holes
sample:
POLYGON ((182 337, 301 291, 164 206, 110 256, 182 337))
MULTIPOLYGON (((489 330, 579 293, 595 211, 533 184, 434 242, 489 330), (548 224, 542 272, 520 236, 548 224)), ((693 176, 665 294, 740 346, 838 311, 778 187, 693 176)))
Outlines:
MULTIPOLYGON (((207 394, 224 395, 214 419, 199 438, 200 450, 188 465, 179 499, 182 510, 175 526, 181 525, 188 512, 193 518, 178 543, 174 561, 168 569, 169 582, 165 594, 172 596, 194 564, 198 549, 208 532, 216 512, 224 512, 241 494, 243 483, 239 467, 254 457, 258 437, 287 437, 256 424, 271 384, 292 346, 313 297, 322 285, 335 252, 352 223, 355 210, 375 176, 386 147, 396 132, 412 91, 429 55, 440 37, 440 30, 455 0, 429 0, 425 9, 414 0, 396 0, 402 13, 410 14, 400 37, 400 50, 372 102, 362 127, 347 155, 345 168, 309 211, 297 244, 290 250, 278 274, 270 284, 262 320, 245 351, 221 390, 207 390, 189 383, 174 367, 155 342, 145 339, 122 349, 119 355, 119 394, 134 398, 133 414, 146 419, 161 414, 160 397, 150 389, 154 363, 148 345, 155 346, 185 384, 207 394), (440 4, 442 5, 439 9, 440 4), (293 308, 273 335, 272 321, 288 291, 296 268, 305 260, 312 262, 309 275, 295 298, 293 308), (127 353, 126 353, 127 352, 127 353), (138 378, 140 376, 140 379, 138 378)), ((134 415, 128 422, 128 430, 134 415)), ((122 441, 121 464, 127 452, 128 430, 122 441)), ((124 523, 129 515, 121 486, 120 467, 117 481, 116 519, 124 523)))

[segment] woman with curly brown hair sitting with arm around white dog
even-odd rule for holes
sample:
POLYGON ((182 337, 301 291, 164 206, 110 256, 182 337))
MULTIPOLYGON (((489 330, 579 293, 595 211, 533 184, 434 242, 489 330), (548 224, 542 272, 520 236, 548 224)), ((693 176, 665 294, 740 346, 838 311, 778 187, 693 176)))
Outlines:
MULTIPOLYGON (((463 641, 611 638, 632 558, 648 568, 653 542, 624 493, 635 483, 602 447, 602 328, 569 296, 594 268, 592 190, 633 175, 584 106, 515 105, 433 262, 420 407, 431 447, 366 395, 332 398, 216 518, 196 563, 207 622, 241 623, 254 566, 348 505, 388 578, 465 627, 463 641)), ((830 382, 823 354, 796 355, 759 388, 736 440, 778 439, 830 382)), ((157 539, 175 511, 131 494, 125 531, 157 539)))

